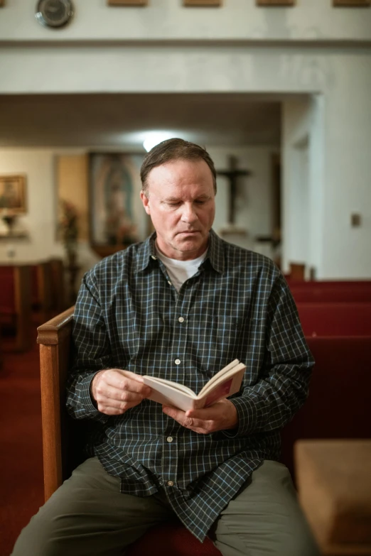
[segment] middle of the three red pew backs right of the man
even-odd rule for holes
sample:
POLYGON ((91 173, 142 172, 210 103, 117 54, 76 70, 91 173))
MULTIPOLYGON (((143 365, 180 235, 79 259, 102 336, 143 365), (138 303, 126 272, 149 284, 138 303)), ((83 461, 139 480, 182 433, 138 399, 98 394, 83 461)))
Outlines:
POLYGON ((306 336, 371 336, 371 303, 296 303, 306 336))

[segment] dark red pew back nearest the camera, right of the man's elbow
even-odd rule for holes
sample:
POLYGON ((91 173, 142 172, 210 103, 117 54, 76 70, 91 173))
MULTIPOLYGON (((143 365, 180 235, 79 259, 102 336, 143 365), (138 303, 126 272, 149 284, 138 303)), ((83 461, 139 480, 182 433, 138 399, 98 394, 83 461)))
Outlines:
POLYGON ((371 336, 314 337, 307 342, 316 360, 309 397, 281 432, 281 461, 292 476, 296 440, 371 437, 371 336))

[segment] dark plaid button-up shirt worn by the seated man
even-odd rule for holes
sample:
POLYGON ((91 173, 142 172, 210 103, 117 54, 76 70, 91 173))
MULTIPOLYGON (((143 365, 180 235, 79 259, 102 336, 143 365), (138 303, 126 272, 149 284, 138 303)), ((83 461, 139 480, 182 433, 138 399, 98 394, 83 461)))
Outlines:
POLYGON ((210 231, 208 254, 179 293, 156 257, 156 233, 88 271, 77 298, 75 361, 67 406, 97 421, 94 453, 121 490, 165 489, 200 540, 263 459, 278 459, 281 427, 308 394, 313 359, 286 281, 269 258, 210 231), (235 430, 201 435, 143 400, 123 415, 100 413, 90 383, 101 369, 127 369, 198 393, 232 359, 247 365, 235 430), (179 363, 180 361, 180 363, 179 363))

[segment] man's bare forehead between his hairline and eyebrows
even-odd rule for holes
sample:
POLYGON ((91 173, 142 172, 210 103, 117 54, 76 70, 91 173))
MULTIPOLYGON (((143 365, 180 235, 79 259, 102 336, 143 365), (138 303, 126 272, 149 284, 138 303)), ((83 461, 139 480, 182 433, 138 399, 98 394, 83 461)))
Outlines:
POLYGON ((153 168, 147 176, 152 190, 166 192, 171 188, 213 189, 213 174, 205 160, 172 160, 153 168))

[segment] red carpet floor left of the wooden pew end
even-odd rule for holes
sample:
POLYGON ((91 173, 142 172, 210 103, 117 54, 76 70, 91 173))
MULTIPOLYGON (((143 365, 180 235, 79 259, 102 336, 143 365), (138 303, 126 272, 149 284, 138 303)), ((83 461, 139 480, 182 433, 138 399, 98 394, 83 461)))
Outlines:
MULTIPOLYGON (((15 354, 3 345, 0 369, 0 556, 9 556, 43 503, 38 345, 15 354)), ((26 555, 25 555, 26 556, 26 555)))

